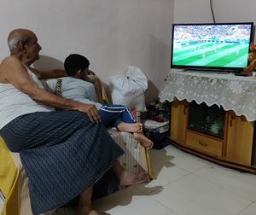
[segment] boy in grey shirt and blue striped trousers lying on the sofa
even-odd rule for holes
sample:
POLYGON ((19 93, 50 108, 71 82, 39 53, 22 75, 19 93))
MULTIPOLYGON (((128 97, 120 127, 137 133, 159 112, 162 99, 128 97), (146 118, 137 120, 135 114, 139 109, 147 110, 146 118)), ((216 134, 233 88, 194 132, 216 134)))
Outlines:
MULTIPOLYGON (((79 78, 81 80, 88 80, 88 75, 94 75, 92 71, 89 70, 90 61, 83 55, 72 54, 68 55, 64 67, 67 76, 73 78, 79 78)), ((62 96, 68 97, 70 94, 70 88, 68 89, 68 83, 62 84, 61 93, 62 96), (69 93, 67 93, 68 90, 69 93)), ((143 124, 137 123, 136 119, 133 118, 131 110, 124 105, 105 105, 97 102, 92 102, 86 97, 86 90, 82 89, 80 86, 73 93, 72 99, 84 103, 94 103, 99 111, 102 123, 105 126, 114 126, 118 131, 131 132, 133 133, 134 139, 140 142, 145 148, 152 148, 154 142, 149 140, 143 135, 143 124)), ((69 97, 71 98, 71 97, 69 97)))

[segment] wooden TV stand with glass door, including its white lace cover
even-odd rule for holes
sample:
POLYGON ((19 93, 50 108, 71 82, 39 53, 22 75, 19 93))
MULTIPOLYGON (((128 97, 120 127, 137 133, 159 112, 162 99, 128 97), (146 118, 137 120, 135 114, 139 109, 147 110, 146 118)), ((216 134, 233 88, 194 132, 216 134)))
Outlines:
POLYGON ((172 144, 219 165, 256 173, 255 85, 255 78, 234 74, 170 72, 160 102, 172 102, 172 144))

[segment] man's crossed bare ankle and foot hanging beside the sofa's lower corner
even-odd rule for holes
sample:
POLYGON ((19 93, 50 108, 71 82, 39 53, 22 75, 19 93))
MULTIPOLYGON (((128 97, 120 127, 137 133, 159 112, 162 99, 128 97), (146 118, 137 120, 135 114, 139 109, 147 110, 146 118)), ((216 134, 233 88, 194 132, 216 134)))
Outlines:
POLYGON ((124 167, 121 166, 118 161, 114 162, 113 171, 119 178, 120 186, 128 186, 132 184, 144 183, 147 181, 147 177, 143 172, 136 175, 131 171, 125 171, 124 167))

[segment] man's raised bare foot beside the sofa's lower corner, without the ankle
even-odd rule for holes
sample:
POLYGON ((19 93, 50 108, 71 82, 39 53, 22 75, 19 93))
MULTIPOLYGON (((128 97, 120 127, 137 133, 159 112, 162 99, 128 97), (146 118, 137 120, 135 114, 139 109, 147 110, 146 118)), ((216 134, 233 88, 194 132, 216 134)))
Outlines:
POLYGON ((143 172, 134 174, 131 171, 123 171, 119 180, 120 186, 129 186, 138 183, 145 183, 147 181, 147 177, 143 172))

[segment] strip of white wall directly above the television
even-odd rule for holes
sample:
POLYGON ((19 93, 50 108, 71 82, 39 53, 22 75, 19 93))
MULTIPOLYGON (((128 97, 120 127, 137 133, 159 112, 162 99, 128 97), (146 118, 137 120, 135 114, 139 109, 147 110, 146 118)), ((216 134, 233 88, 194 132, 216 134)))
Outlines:
MULTIPOLYGON (((212 9, 216 22, 253 21, 256 24, 255 0, 212 0, 212 9)), ((174 22, 212 23, 210 0, 175 0, 174 22)))

